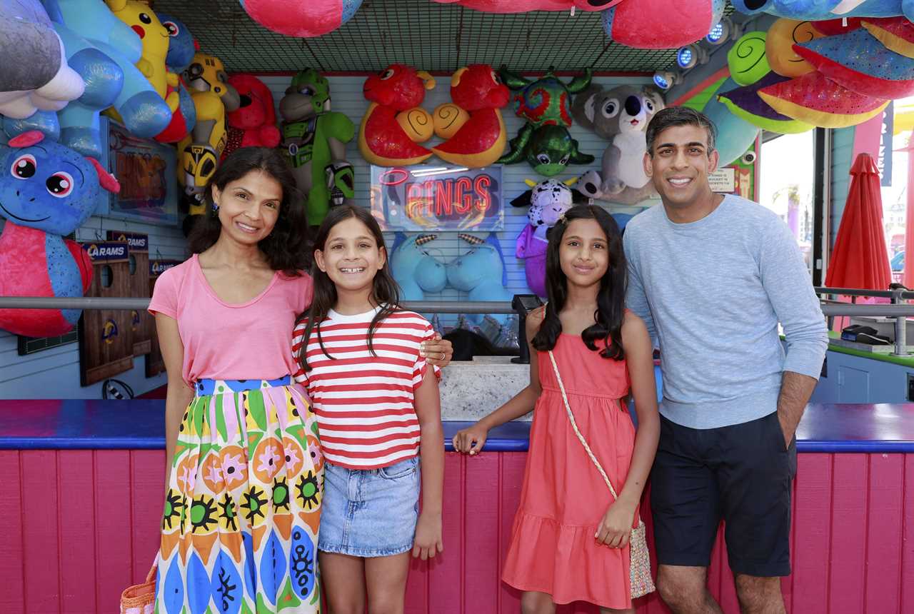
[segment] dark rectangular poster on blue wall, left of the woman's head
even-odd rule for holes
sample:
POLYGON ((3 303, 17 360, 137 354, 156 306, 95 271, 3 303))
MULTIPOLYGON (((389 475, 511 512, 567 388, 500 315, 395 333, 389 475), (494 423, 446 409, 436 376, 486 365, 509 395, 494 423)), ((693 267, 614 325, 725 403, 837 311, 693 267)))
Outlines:
POLYGON ((133 136, 117 122, 109 122, 108 148, 109 167, 121 183, 108 216, 177 226, 175 148, 133 136))

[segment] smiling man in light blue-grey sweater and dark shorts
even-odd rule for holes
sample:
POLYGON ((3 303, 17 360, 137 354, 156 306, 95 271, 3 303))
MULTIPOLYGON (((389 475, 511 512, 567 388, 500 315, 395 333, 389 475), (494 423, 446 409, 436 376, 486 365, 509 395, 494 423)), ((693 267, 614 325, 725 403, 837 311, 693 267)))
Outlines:
POLYGON ((628 306, 659 341, 664 375, 651 473, 657 585, 676 614, 721 611, 706 583, 722 518, 742 611, 772 614, 785 611, 780 576, 791 573, 794 431, 827 331, 787 226, 711 192, 715 132, 685 107, 654 115, 644 170, 663 206, 624 235, 628 306))

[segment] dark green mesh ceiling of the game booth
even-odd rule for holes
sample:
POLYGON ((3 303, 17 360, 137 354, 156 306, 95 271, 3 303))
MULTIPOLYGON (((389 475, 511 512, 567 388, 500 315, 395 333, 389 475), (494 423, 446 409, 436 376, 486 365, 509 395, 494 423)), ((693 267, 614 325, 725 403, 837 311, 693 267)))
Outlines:
MULTIPOLYGON (((229 72, 373 72, 394 62, 441 72, 476 62, 522 71, 654 71, 675 60, 674 49, 611 42, 600 14, 584 11, 495 15, 431 0, 365 0, 335 32, 292 38, 255 23, 238 0, 154 0, 154 9, 183 21, 229 72)), ((728 3, 727 13, 732 10, 728 3)))

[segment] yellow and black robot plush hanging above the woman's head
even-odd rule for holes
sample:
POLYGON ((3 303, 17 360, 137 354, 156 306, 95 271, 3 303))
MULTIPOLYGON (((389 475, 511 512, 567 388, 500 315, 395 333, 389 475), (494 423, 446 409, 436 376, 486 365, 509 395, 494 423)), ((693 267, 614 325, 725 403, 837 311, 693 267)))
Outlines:
POLYGON ((226 112, 238 109, 240 100, 238 91, 228 84, 222 60, 215 56, 197 53, 187 67, 185 79, 193 92, 191 97, 197 111, 193 132, 177 145, 180 162, 177 177, 190 201, 189 219, 206 212, 203 191, 216 172, 219 156, 226 146, 226 112))

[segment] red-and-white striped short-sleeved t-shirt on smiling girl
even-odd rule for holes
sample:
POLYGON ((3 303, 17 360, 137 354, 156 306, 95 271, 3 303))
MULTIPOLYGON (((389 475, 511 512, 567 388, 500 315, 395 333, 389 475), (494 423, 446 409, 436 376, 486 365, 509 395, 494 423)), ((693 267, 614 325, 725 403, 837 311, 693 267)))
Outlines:
MULTIPOLYGON (((372 334, 376 355, 368 351, 368 325, 377 310, 342 315, 331 310, 321 323, 324 355, 312 331, 307 357, 295 381, 308 390, 321 433, 324 458, 349 469, 377 469, 419 453, 420 426, 413 393, 425 377, 419 344, 431 339, 431 324, 418 313, 394 312, 372 334)), ((298 361, 305 323, 292 333, 298 361)), ((440 370, 435 367, 435 374, 440 370)))

